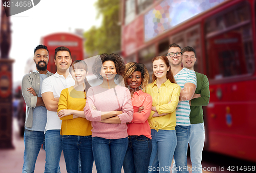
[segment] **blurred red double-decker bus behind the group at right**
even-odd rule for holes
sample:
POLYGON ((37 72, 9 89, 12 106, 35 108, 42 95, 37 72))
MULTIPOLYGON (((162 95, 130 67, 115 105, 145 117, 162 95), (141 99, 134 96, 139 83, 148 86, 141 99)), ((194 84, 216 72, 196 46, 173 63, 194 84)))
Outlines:
POLYGON ((172 43, 196 50, 195 71, 207 75, 205 149, 256 162, 256 27, 254 0, 122 0, 125 62, 152 58, 172 43))

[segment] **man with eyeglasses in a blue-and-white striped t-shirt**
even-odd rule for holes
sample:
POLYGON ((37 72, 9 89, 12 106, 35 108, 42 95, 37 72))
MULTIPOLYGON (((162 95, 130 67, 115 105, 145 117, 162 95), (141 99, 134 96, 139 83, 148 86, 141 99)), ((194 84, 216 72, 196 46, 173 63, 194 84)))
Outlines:
POLYGON ((197 88, 196 73, 187 68, 182 68, 183 59, 181 47, 171 44, 168 48, 167 58, 177 84, 181 87, 180 101, 176 111, 176 136, 177 145, 174 151, 173 172, 186 172, 187 168, 187 147, 190 136, 190 105, 189 100, 193 97, 197 88))

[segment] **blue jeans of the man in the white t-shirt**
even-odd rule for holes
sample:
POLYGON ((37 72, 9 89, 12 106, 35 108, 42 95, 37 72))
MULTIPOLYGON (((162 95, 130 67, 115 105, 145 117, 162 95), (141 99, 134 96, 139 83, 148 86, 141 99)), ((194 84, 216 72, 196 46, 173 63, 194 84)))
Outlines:
POLYGON ((46 165, 45 173, 60 172, 59 160, 62 152, 62 136, 60 130, 53 129, 46 131, 46 165))

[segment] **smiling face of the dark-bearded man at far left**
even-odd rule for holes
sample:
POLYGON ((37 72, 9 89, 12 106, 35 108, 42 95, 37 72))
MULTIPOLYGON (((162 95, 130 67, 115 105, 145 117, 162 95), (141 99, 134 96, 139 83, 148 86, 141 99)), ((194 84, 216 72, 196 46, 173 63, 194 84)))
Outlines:
POLYGON ((38 71, 46 71, 47 70, 49 56, 48 56, 48 52, 46 49, 36 50, 33 60, 36 64, 36 70, 38 70, 38 71))

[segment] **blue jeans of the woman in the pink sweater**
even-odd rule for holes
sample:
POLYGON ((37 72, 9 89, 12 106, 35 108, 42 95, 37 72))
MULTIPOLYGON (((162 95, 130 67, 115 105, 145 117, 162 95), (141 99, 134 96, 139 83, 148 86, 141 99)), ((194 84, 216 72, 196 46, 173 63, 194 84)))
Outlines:
POLYGON ((128 138, 93 137, 92 148, 97 173, 120 173, 128 147, 128 138))

